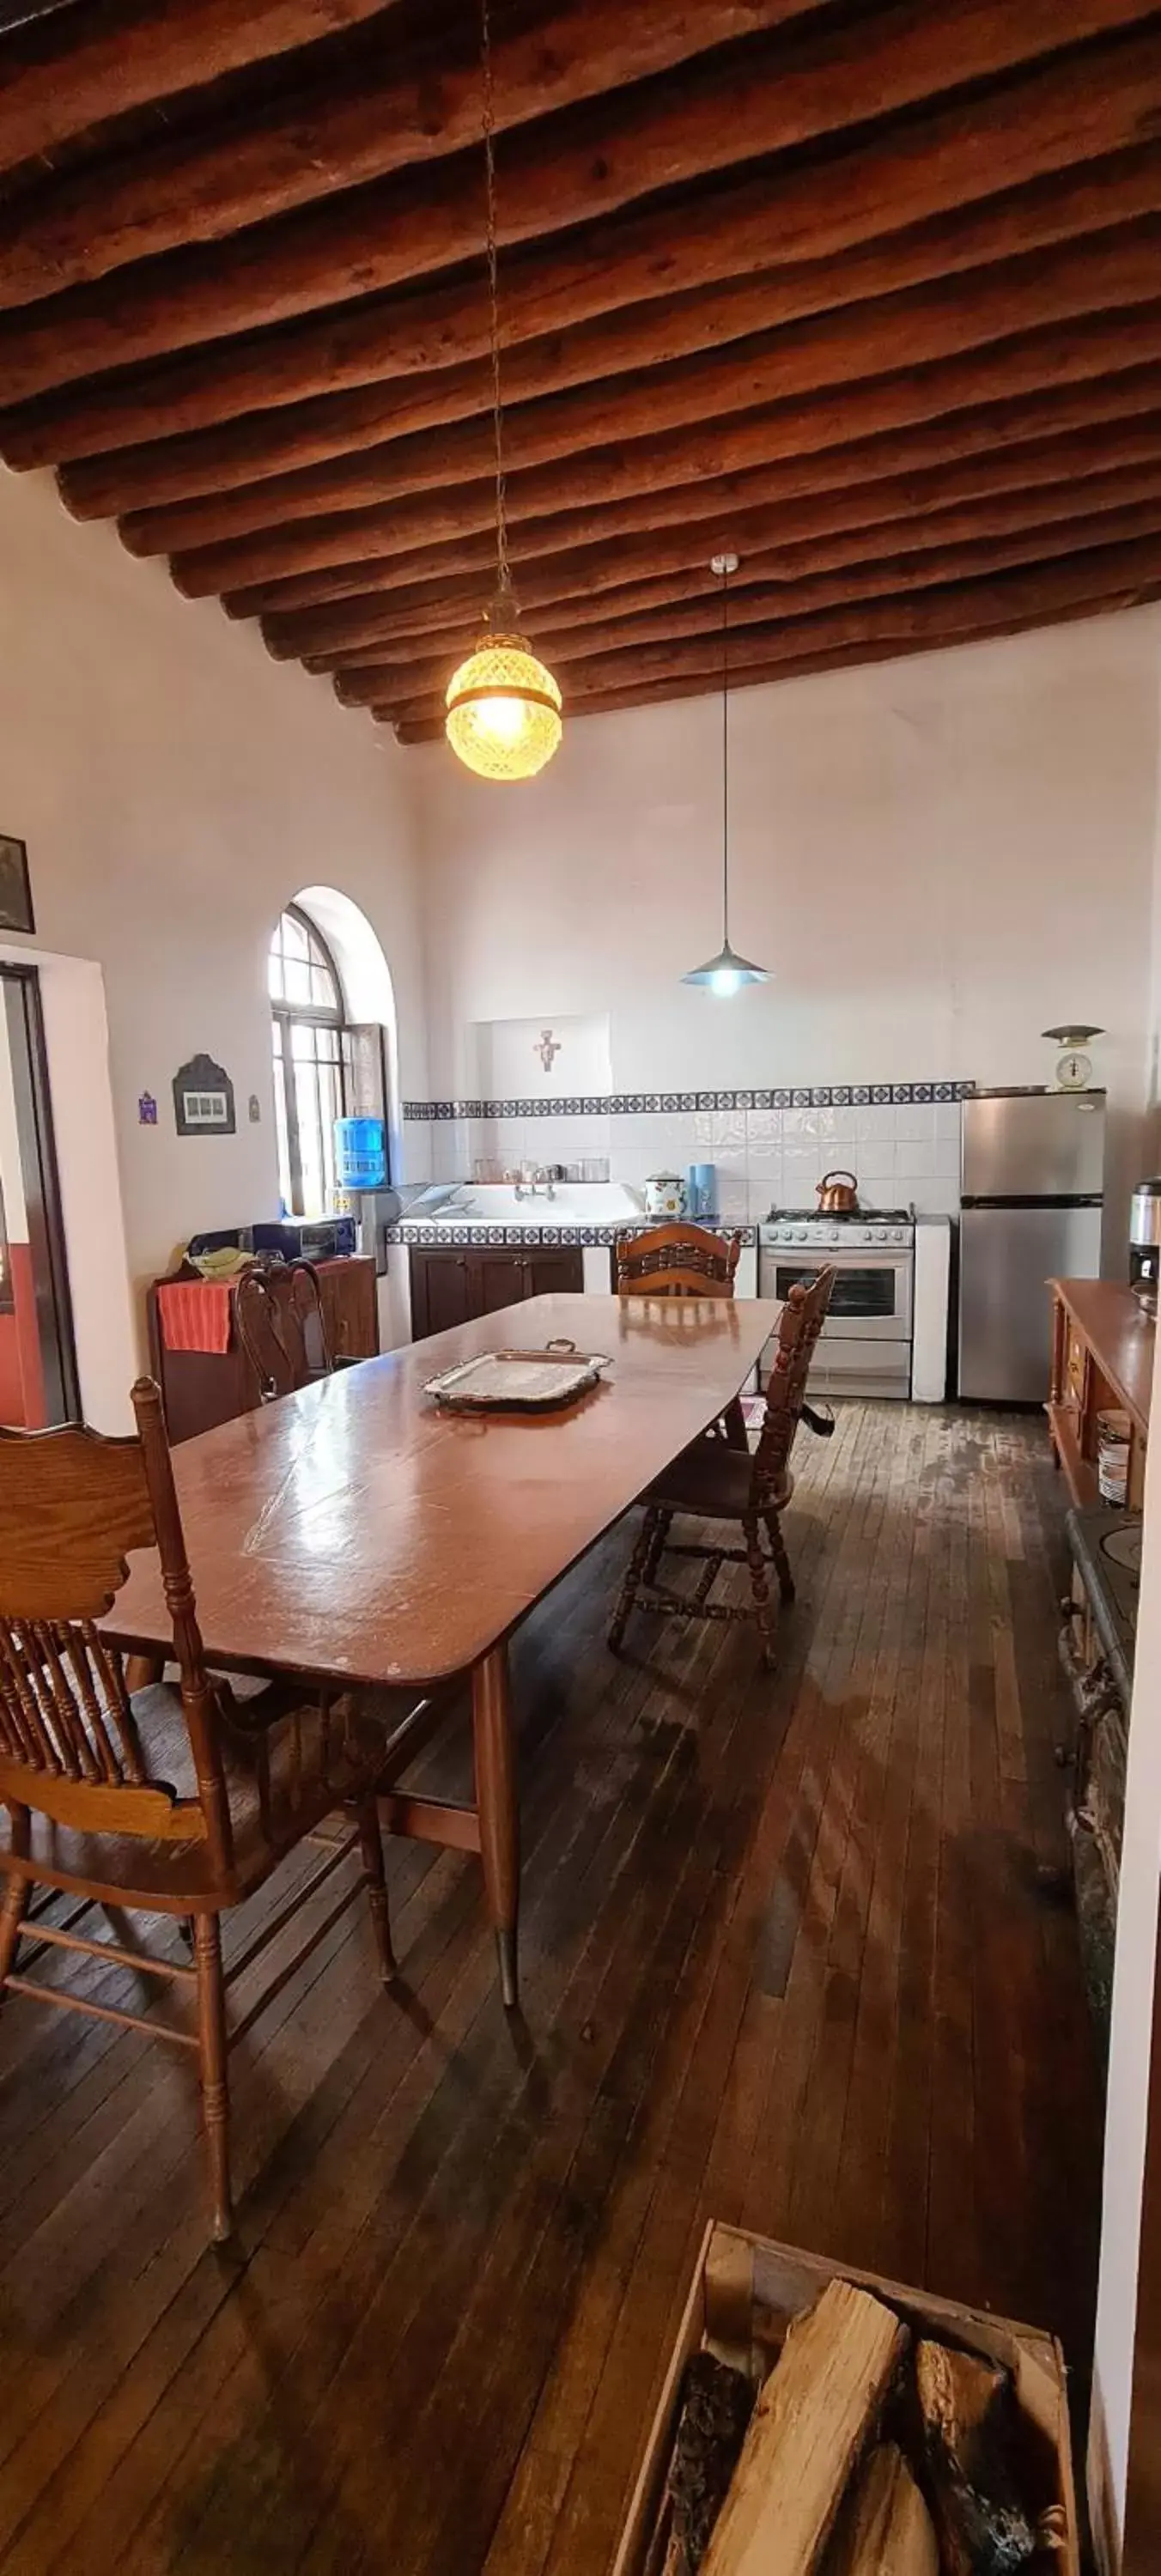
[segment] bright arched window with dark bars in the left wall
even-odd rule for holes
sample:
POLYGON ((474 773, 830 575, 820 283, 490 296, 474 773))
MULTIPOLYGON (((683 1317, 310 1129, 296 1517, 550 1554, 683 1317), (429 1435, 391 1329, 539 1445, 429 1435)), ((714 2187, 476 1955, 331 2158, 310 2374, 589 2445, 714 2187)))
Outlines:
POLYGON ((270 940, 278 1188, 291 1216, 327 1216, 335 1118, 348 1108, 342 984, 327 940, 288 904, 270 940))

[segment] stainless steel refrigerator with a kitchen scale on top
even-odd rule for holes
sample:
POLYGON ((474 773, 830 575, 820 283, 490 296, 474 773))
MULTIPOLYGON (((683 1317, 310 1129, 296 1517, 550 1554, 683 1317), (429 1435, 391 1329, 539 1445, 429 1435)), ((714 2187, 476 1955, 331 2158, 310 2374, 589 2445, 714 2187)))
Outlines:
POLYGON ((1102 1193, 1104 1092, 963 1103, 960 1396, 1048 1396, 1045 1280, 1099 1275, 1102 1193))

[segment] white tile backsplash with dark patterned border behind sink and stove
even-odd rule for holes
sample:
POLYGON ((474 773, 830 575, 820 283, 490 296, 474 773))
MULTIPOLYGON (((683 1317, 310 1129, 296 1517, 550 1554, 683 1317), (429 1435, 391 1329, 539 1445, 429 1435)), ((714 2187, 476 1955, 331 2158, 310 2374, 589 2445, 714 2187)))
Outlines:
POLYGON ((770 1208, 811 1208, 821 1175, 847 1167, 868 1208, 955 1216, 960 1100, 971 1090, 971 1082, 862 1082, 551 1103, 412 1100, 404 1177, 471 1182, 520 1164, 592 1162, 602 1177, 644 1190, 654 1172, 685 1175, 692 1162, 711 1162, 718 1218, 754 1226, 770 1208))

